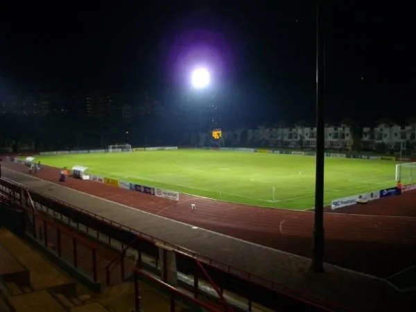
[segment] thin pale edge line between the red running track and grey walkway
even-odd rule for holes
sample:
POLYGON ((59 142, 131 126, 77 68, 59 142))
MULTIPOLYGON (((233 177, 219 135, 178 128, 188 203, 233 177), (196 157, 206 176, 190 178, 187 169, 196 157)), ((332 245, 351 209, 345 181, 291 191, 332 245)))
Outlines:
MULTIPOLYGON (((14 172, 14 173, 17 173, 18 175, 26 175, 26 174, 24 174, 24 173, 20 173, 19 171, 15 171, 15 170, 10 169, 10 168, 6 168, 6 167, 5 167, 4 169, 6 169, 6 171, 12 171, 12 172, 14 172)), ((133 208, 133 207, 129 207, 129 206, 127 206, 127 205, 123 205, 123 204, 121 204, 121 203, 119 203, 119 202, 114 202, 114 201, 112 201, 112 200, 107 200, 107 199, 105 199, 105 198, 100 198, 100 197, 98 197, 98 196, 94 196, 94 195, 92 195, 92 194, 85 193, 85 192, 83 192, 83 191, 78 191, 77 189, 71 189, 70 187, 66 187, 66 186, 61 185, 61 184, 58 184, 58 183, 49 182, 49 181, 47 181, 47 180, 43 180, 43 179, 41 179, 40 177, 34 177, 34 176, 32 176, 32 175, 31 175, 31 177, 33 177, 33 178, 34 178, 34 179, 36 179, 36 180, 40 180, 40 181, 43 181, 43 182, 48 182, 48 183, 51 183, 51 184, 53 184, 53 185, 58 185, 59 187, 64 187, 65 189, 70 189, 71 191, 75 191, 76 193, 83 194, 84 196, 90 196, 90 197, 92 197, 92 198, 96 198, 96 199, 98 199, 98 200, 104 200, 104 201, 106 201, 106 202, 111 202, 111 203, 112 203, 112 204, 114 204, 114 205, 119 205, 119 206, 121 206, 121 207, 125 207, 125 208, 127 208, 127 209, 132 209, 132 210, 134 210, 134 211, 141 212, 141 213, 143 213, 143 214, 150 214, 150 215, 153 215, 153 216, 157 216, 157 218, 162 218, 162 219, 164 219, 164 220, 169 220, 169 221, 171 221, 171 222, 173 222, 173 223, 179 223, 179 224, 182 224, 182 225, 186 225, 186 226, 188 226, 188 227, 189 227, 189 226, 190 226, 190 227, 195 227, 195 225, 191 225, 191 224, 189 224, 189 223, 184 223, 184 222, 181 222, 181 221, 177 221, 177 220, 173 220, 173 219, 170 219, 170 218, 166 218, 166 217, 164 217, 164 216, 158 216, 158 215, 155 215, 155 214, 151 214, 150 212, 143 211, 143 210, 140 210, 140 209, 137 209, 137 208, 133 208)), ((21 184, 23 184, 23 183, 21 183, 21 184)), ((287 256, 290 256, 290 257, 294 257, 294 258, 299 258, 299 259, 303 259, 303 260, 311 261, 311 259, 310 259, 310 258, 308 258, 308 257, 304 257, 304 256, 300 256, 299 254, 293 254, 293 253, 291 253, 291 252, 285 252, 284 250, 279 250, 279 249, 275 249, 275 248, 270 248, 270 247, 267 247, 267 246, 259 245, 259 244, 257 244, 257 243, 252 243, 252 242, 250 242, 250 241, 244 241, 243 239, 239 239, 239 238, 236 238, 236 237, 233 237, 233 236, 228 236, 228 235, 225 235, 225 234, 221 234, 221 233, 218 233, 218 232, 214 232, 214 231, 211 231, 211 230, 209 230, 209 229, 204 229, 204 228, 200 228, 200 227, 198 227, 198 229, 199 229, 199 230, 201 230, 201 231, 205 231, 205 232, 208 232, 208 233, 212 233, 212 234, 218 235, 218 236, 223 236, 223 237, 226 237, 227 239, 232 239, 232 240, 235 240, 235 241, 241 241, 241 242, 243 242, 243 243, 246 243, 246 244, 249 244, 249 245, 256 246, 257 248, 264 248, 264 249, 266 249, 266 250, 270 250, 270 251, 272 251, 272 252, 277 252, 277 253, 281 253, 281 254, 286 254, 287 256)), ((191 250, 191 252, 192 252, 192 250, 191 250)), ((370 275, 370 274, 367 274, 367 273, 364 273, 364 272, 359 272, 359 271, 351 270, 351 269, 348 269, 348 268, 343 268, 342 266, 336 266, 335 264, 331 264, 331 263, 327 263, 327 262, 325 262, 325 263, 324 263, 324 265, 325 265, 325 266, 332 267, 332 268, 336 268, 336 269, 341 270, 341 271, 349 272, 349 273, 352 273, 352 274, 355 274, 355 275, 360 275, 360 276, 362 276, 362 277, 367 277, 368 279, 375 279, 375 280, 377 280, 377 281, 382 281, 382 282, 384 282, 385 284, 387 284, 388 286, 390 286, 390 287, 392 287, 393 289, 395 289, 396 291, 403 292, 403 291, 401 291, 399 288, 397 288, 397 286, 395 286, 394 284, 390 283, 390 281, 388 281, 388 280, 387 280, 387 279, 385 279, 385 278, 382 278, 382 277, 377 277, 377 276, 375 276, 375 275, 370 275)))

